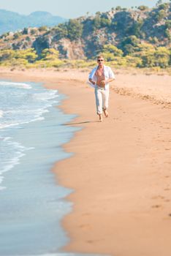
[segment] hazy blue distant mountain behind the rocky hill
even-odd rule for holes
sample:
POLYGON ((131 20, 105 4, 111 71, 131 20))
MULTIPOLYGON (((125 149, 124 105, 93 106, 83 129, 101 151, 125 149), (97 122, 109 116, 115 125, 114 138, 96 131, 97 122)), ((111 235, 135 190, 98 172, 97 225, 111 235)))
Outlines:
POLYGON ((20 15, 17 12, 0 10, 0 34, 29 26, 56 26, 65 21, 65 18, 53 16, 49 12, 32 12, 30 15, 20 15))

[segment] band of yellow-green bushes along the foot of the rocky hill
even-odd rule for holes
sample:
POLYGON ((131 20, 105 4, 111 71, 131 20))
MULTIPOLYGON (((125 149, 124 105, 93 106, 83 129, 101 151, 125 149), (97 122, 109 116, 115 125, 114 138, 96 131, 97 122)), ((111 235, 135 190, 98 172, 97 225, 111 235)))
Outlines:
MULTIPOLYGON (((132 51, 124 54, 115 45, 104 45, 102 54, 106 61, 114 67, 170 67, 171 49, 165 47, 154 47, 147 43, 138 43, 134 38, 129 42, 132 51)), ((4 67, 91 67, 94 60, 67 60, 59 59, 58 50, 53 48, 42 50, 38 57, 33 48, 27 50, 0 50, 0 66, 4 67)))

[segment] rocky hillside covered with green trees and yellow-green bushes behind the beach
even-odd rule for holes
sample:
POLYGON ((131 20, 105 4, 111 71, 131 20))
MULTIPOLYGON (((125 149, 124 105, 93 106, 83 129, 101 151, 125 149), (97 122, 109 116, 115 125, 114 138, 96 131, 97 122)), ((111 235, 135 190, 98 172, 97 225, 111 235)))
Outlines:
MULTIPOLYGON (((42 26, 2 34, 0 50, 4 53, 1 51, 0 61, 5 56, 15 55, 7 50, 27 50, 28 54, 28 49, 31 49, 34 61, 49 61, 49 64, 55 59, 94 59, 96 54, 103 53, 107 61, 117 65, 168 67, 171 62, 170 42, 170 3, 159 4, 153 9, 145 6, 134 10, 116 7, 53 28, 42 26)), ((21 53, 19 56, 16 58, 20 59, 21 53)), ((57 67, 59 62, 54 65, 57 67)))

